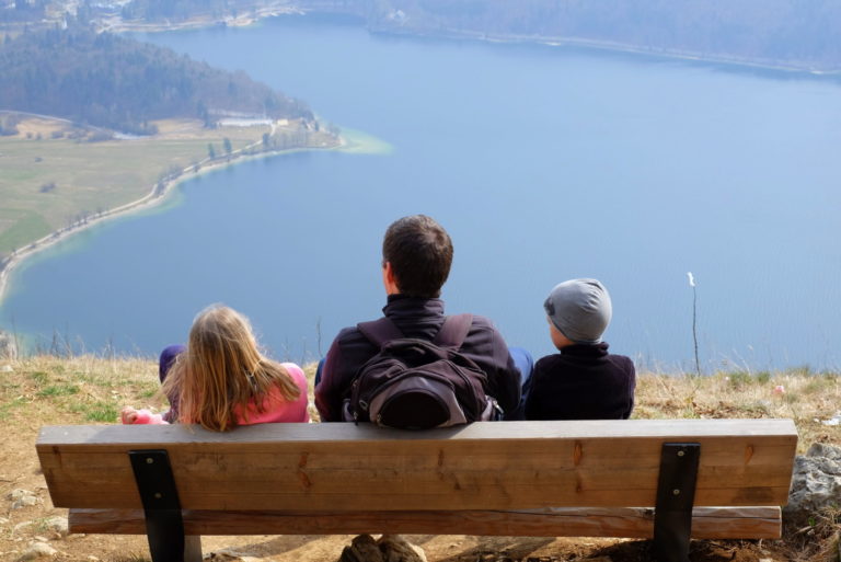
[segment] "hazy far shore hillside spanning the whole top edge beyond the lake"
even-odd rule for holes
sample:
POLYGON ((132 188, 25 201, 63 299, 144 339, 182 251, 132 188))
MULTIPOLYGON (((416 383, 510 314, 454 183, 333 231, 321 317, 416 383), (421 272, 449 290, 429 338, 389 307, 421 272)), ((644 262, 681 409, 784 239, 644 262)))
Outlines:
MULTIPOLYGON (((201 25, 274 13, 349 14, 385 33, 548 42, 841 71, 837 0, 0 0, 0 34, 201 25)), ((242 23, 240 22, 240 23, 242 23)))

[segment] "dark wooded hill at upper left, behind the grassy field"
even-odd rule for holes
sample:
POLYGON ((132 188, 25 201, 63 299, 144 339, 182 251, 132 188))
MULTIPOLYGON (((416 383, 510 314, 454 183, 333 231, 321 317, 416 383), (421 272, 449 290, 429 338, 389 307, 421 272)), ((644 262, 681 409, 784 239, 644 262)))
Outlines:
POLYGON ((43 113, 134 134, 152 119, 231 113, 312 114, 243 72, 158 46, 89 31, 25 33, 0 45, 0 110, 43 113))

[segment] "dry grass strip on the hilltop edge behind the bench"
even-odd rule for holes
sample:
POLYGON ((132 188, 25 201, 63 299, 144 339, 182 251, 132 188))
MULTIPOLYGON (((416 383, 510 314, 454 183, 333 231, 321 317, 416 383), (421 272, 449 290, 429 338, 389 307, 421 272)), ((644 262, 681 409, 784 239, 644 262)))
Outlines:
MULTIPOLYGON (((49 355, 0 362, 0 421, 110 423, 125 404, 165 409, 158 365, 150 358, 49 355), (113 414, 113 415, 111 415, 113 414)), ((310 379, 315 366, 306 367, 310 379)), ((813 443, 841 444, 841 425, 822 422, 841 411, 841 376, 805 369, 785 372, 718 372, 707 377, 641 374, 636 418, 791 417, 799 450, 813 443), (784 392, 775 392, 783 387, 784 392)), ((313 408, 311 413, 318 420, 313 408)))

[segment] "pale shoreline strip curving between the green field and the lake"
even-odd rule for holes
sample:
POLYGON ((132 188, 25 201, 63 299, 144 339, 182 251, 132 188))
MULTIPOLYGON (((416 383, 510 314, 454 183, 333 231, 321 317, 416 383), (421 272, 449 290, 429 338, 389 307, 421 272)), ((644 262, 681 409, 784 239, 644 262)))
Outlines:
POLYGON ((124 205, 119 205, 118 207, 103 211, 95 217, 85 219, 83 222, 55 230, 39 238, 38 240, 30 242, 23 249, 12 252, 4 261, 0 262, 0 307, 2 307, 2 303, 7 297, 7 293, 11 286, 12 273, 21 265, 23 265, 26 260, 80 232, 84 232, 94 226, 162 205, 169 199, 174 188, 183 181, 192 180, 206 172, 222 170, 230 165, 234 165, 249 160, 288 154, 300 150, 339 150, 348 146, 347 140, 341 135, 336 137, 336 140, 337 142, 333 146, 303 146, 246 153, 246 150, 262 145, 262 140, 257 140, 241 149, 232 151, 228 157, 218 157, 214 160, 208 157, 197 162, 197 164, 191 164, 180 170, 177 173, 174 173, 174 176, 168 176, 164 180, 154 183, 149 193, 139 199, 135 199, 124 205), (196 165, 200 168, 196 169, 196 165))

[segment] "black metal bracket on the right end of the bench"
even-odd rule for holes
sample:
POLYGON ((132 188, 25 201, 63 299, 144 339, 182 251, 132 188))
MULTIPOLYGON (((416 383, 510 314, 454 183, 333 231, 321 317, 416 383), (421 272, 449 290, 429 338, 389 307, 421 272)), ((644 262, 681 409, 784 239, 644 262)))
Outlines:
POLYGON ((700 459, 699 443, 663 444, 654 511, 654 558, 658 562, 689 562, 700 459))

